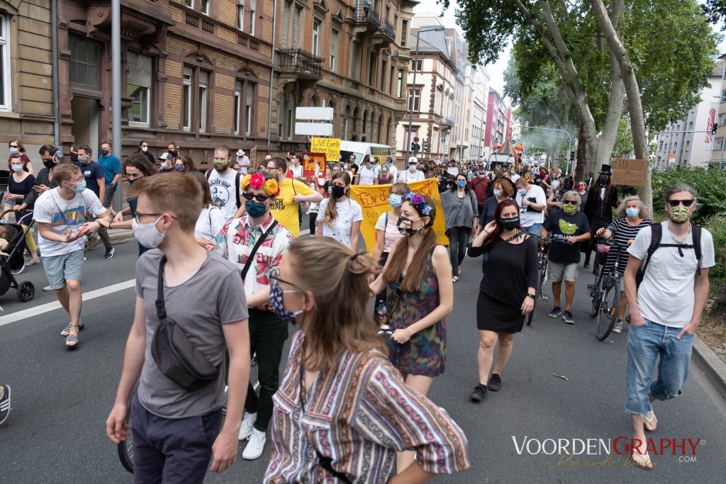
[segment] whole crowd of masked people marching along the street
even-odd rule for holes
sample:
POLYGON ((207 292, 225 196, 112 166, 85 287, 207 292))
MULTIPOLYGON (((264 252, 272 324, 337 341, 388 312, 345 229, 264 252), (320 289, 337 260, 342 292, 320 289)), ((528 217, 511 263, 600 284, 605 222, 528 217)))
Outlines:
MULTIPOLYGON (((627 308, 625 409, 643 446, 644 428, 657 424, 653 401, 679 395, 688 374, 714 265, 711 235, 690 223, 697 207, 690 186, 666 192, 667 219, 652 225, 637 197, 619 200, 609 165, 588 183, 537 165, 419 166, 410 157, 399 170, 390 157, 358 165, 351 155, 306 177, 295 153, 254 165, 222 145, 213 168, 201 172, 176 144, 155 158, 141 141, 123 167, 107 142, 98 163, 88 146, 74 147, 63 163, 60 149, 45 145, 34 177, 22 143, 13 144, 3 201, 29 235, 26 266, 41 261, 68 313, 61 332, 68 348, 78 348, 84 328, 86 250, 100 239, 112 258, 107 230, 134 231, 134 321, 107 435, 118 443, 133 432, 138 482, 201 482, 208 468, 234 464, 238 441, 247 441, 243 459, 258 459, 268 430, 269 483, 423 483, 467 469, 465 433, 426 398, 446 371, 446 316, 466 255, 482 257, 472 401, 502 389, 515 335, 537 298, 538 252, 549 262, 547 315, 574 324, 581 255, 589 268, 599 238, 629 247, 619 255, 613 331, 624 329, 627 308), (129 196, 115 213, 122 177, 129 196), (409 186, 434 177, 440 210, 409 186), (353 184, 388 185, 390 206, 375 223, 375 247, 367 247, 372 257, 359 252, 364 217, 353 184), (303 213, 311 237, 301 237, 303 213), (26 216, 37 227, 39 258, 26 216), (441 217, 448 246, 433 230, 441 217), (639 276, 644 260, 649 270, 639 276), (171 336, 174 326, 184 328, 184 341, 171 336), (291 329, 299 330, 281 376, 291 329), (258 387, 249 379, 253 356, 258 387)), ((595 270, 613 264, 614 255, 596 253, 595 270)), ((9 398, 9 387, 0 387, 0 423, 9 398)), ((645 447, 634 446, 632 459, 652 467, 645 447)))

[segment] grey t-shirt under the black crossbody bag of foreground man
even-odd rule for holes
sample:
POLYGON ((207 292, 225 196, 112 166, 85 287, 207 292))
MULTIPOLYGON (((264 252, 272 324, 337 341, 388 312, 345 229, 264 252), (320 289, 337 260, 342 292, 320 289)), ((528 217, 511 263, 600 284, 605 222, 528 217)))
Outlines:
POLYGON ((174 319, 213 365, 221 364, 216 383, 195 392, 182 390, 158 368, 151 342, 159 325, 156 315, 160 250, 144 253, 136 263, 136 295, 146 311, 146 350, 139 380, 139 402, 152 414, 167 419, 205 415, 224 403, 224 341, 222 324, 248 319, 245 290, 237 268, 214 253, 207 254, 197 274, 176 287, 164 286, 164 303, 174 319))

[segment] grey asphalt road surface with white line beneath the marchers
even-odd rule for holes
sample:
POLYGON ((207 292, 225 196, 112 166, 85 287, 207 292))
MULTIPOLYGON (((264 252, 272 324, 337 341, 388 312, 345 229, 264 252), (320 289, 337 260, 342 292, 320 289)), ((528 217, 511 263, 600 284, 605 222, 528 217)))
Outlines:
MULTIPOLYGON (((110 260, 103 258, 102 247, 89 252, 83 276, 86 330, 73 352, 59 336, 68 323, 65 313, 52 305, 52 292, 41 291, 46 285, 41 267, 27 268, 20 276, 36 284, 33 301, 19 303, 12 291, 0 296, 0 383, 12 385, 12 412, 0 427, 0 482, 131 482, 115 445, 105 436, 105 419, 131 325, 135 262, 134 242, 118 245, 110 260)), ((723 482, 726 405, 695 365, 682 397, 656 403, 658 430, 649 434, 656 445, 660 439, 700 439, 695 456, 688 443, 687 456, 680 448, 677 455, 666 449, 666 455, 653 457, 656 466, 648 472, 632 467, 625 456, 600 451, 596 440, 590 441, 595 445, 591 455, 544 454, 552 452, 558 439, 613 442, 630 432, 623 410, 627 329, 602 343, 595 338, 584 288, 592 282, 590 271, 581 269, 579 274, 576 325, 548 318, 550 303, 539 303, 531 327, 515 339, 502 390, 490 392, 482 403, 471 403, 469 393, 477 383, 480 268, 480 259, 467 259, 454 285, 447 369, 428 395, 465 430, 471 468, 438 482, 723 482), (544 443, 542 451, 539 443, 546 439, 554 441, 544 443)), ((624 441, 617 442, 622 449, 624 441)), ((253 462, 242 460, 244 445, 240 443, 237 464, 224 475, 208 475, 208 482, 261 482, 269 439, 265 454, 253 462)))

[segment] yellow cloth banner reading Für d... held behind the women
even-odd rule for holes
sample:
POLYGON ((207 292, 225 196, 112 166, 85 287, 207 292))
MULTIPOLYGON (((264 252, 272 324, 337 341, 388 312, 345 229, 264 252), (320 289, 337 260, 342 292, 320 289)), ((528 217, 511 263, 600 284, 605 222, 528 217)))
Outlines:
MULTIPOLYGON (((408 184, 412 192, 426 195, 433 200, 436 208, 436 218, 433 220, 433 229, 439 235, 439 243, 449 245, 449 239, 444 234, 446 222, 444 220, 444 209, 441 208, 441 197, 439 197, 439 185, 436 179, 414 181, 408 184)), ((361 222, 361 234, 369 254, 375 249, 375 223, 382 213, 391 210, 388 204, 388 189, 391 185, 351 185, 351 198, 358 202, 363 209, 363 221, 361 222)))

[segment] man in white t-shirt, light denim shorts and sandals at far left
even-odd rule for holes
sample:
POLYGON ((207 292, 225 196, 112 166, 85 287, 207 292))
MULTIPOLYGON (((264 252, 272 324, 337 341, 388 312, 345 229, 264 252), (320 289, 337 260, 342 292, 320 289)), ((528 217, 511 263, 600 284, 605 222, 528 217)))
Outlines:
POLYGON ((33 219, 38 224, 38 247, 43 268, 58 301, 70 316, 70 324, 61 332, 65 345, 78 346, 81 325, 81 276, 83 242, 111 223, 110 213, 96 194, 86 188, 81 169, 70 163, 53 168, 57 188, 46 190, 33 205, 33 219), (96 220, 83 223, 86 215, 96 220))

